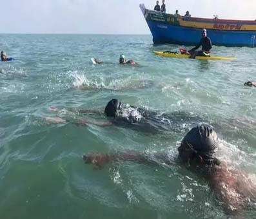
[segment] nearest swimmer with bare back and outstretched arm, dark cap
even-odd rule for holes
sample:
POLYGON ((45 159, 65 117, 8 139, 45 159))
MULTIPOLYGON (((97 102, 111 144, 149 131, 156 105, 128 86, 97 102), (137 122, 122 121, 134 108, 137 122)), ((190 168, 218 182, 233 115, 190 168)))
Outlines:
MULTIPOLYGON (((157 163, 179 165, 205 178, 210 188, 223 204, 226 214, 241 213, 246 203, 256 200, 256 184, 246 173, 228 166, 223 160, 215 157, 218 148, 217 133, 206 125, 192 128, 182 139, 177 149, 177 158, 170 159, 170 155, 156 153, 153 155, 157 163)), ((153 163, 154 160, 147 153, 134 151, 115 153, 88 153, 83 156, 86 164, 93 164, 101 169, 104 164, 115 161, 130 161, 139 163, 153 163)))

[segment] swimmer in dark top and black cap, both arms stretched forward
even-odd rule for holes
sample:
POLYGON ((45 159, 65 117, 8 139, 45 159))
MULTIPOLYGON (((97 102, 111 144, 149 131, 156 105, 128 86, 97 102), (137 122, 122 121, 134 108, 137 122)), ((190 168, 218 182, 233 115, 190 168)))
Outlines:
MULTIPOLYGON (((49 108, 50 111, 60 111, 58 108, 49 108)), ((77 113, 103 113, 100 110, 90 109, 67 109, 77 113)), ((103 124, 80 120, 72 122, 59 117, 46 117, 50 122, 66 123, 71 122, 77 125, 95 124, 97 126, 128 126, 139 131, 149 133, 165 133, 170 131, 181 131, 181 129, 189 128, 203 120, 196 115, 186 112, 159 113, 144 108, 137 108, 124 104, 123 102, 112 99, 108 102, 104 109, 104 115, 108 118, 108 122, 103 124), (184 126, 186 124, 186 126, 184 126)))

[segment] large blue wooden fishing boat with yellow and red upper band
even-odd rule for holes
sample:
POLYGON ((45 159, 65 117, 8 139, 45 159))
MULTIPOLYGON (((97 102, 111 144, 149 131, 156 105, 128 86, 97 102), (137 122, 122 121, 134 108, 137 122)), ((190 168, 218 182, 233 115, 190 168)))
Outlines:
POLYGON ((214 45, 255 47, 256 21, 175 16, 148 10, 144 4, 139 6, 155 44, 195 45, 206 28, 214 45))

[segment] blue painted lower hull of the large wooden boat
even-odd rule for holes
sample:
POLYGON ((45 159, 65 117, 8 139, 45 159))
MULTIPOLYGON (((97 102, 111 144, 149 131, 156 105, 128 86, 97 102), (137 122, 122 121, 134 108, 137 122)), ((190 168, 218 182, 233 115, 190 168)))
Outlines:
MULTIPOLYGON (((153 35, 153 43, 195 45, 201 39, 201 29, 175 26, 157 21, 146 21, 153 35)), ((212 44, 218 46, 255 46, 256 32, 208 30, 212 44)))

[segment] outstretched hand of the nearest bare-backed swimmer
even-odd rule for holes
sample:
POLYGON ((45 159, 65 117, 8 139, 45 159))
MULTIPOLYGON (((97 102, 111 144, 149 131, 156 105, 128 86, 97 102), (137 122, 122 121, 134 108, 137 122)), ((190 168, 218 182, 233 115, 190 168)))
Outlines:
POLYGON ((110 156, 99 153, 90 153, 84 155, 83 160, 85 164, 93 164, 98 169, 102 169, 104 164, 110 162, 110 156))

